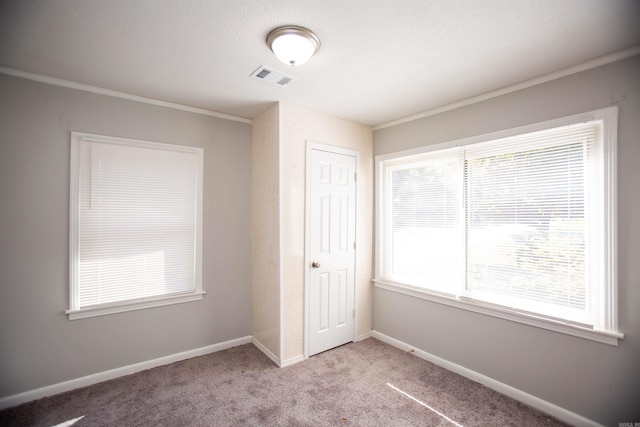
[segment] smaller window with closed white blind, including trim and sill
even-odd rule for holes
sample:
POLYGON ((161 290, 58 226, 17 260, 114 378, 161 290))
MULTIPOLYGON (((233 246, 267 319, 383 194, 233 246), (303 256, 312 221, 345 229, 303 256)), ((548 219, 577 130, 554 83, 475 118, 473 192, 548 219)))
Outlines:
POLYGON ((201 148, 71 134, 71 320, 202 299, 201 148))

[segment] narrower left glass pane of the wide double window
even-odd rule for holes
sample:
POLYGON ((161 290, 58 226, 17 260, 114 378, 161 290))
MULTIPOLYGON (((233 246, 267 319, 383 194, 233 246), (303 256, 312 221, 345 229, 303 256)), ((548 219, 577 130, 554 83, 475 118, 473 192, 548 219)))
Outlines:
POLYGON ((461 170, 457 156, 390 172, 391 266, 398 281, 455 293, 464 278, 461 170))

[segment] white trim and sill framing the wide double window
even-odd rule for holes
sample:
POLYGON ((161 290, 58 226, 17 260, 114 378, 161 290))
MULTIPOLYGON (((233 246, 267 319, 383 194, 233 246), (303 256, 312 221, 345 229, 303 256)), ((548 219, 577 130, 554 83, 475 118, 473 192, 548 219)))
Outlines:
MULTIPOLYGON (((424 299, 427 301, 448 305, 451 307, 461 308, 480 314, 498 317, 529 326, 534 326, 554 332, 560 332, 567 335, 585 338, 588 340, 618 345, 618 340, 624 338, 624 334, 618 330, 618 277, 617 277, 617 179, 616 179, 616 163, 617 163, 617 128, 618 128, 618 108, 616 106, 607 107, 587 113, 576 114, 559 119, 548 120, 531 125, 521 126, 517 128, 507 129, 504 131, 493 132, 480 136, 462 138, 455 141, 428 145, 416 149, 405 150, 396 153, 384 154, 376 156, 376 193, 380 194, 384 188, 384 163, 386 161, 412 155, 419 155, 431 151, 445 150, 448 148, 463 147, 469 144, 476 144, 490 140, 505 138, 509 136, 535 132, 541 129, 560 127, 578 122, 587 122, 592 120, 604 120, 607 124, 603 134, 604 148, 604 170, 603 176, 606 177, 607 185, 602 185, 603 200, 605 201, 604 212, 604 229, 601 230, 599 239, 606 248, 604 254, 605 262, 603 275, 609 286, 604 290, 601 298, 604 300, 605 312, 599 313, 603 330, 596 330, 590 326, 577 323, 571 323, 551 317, 543 317, 535 313, 528 313, 521 310, 508 309, 502 306, 493 305, 487 302, 472 300, 463 296, 439 293, 424 288, 398 283, 387 280, 383 277, 382 266, 384 265, 385 247, 381 243, 381 239, 376 239, 375 247, 375 278, 373 279, 376 288, 397 292, 400 294, 424 299)), ((376 197, 376 235, 384 236, 388 227, 385 227, 383 212, 385 210, 384 198, 376 197)))

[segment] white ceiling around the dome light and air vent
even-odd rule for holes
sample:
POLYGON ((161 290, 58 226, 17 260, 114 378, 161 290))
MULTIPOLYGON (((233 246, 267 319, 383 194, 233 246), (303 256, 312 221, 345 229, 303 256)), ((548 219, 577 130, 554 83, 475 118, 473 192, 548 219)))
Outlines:
POLYGON ((637 0, 0 0, 0 66, 249 119, 283 101, 381 125, 639 45, 637 0), (280 63, 281 25, 318 53, 280 63))

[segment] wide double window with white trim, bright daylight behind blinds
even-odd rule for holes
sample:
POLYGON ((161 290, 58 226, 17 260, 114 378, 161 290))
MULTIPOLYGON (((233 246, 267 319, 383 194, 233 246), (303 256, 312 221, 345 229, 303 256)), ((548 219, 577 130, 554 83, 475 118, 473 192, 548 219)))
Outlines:
POLYGON ((378 158, 378 286, 610 344, 617 110, 378 158))

